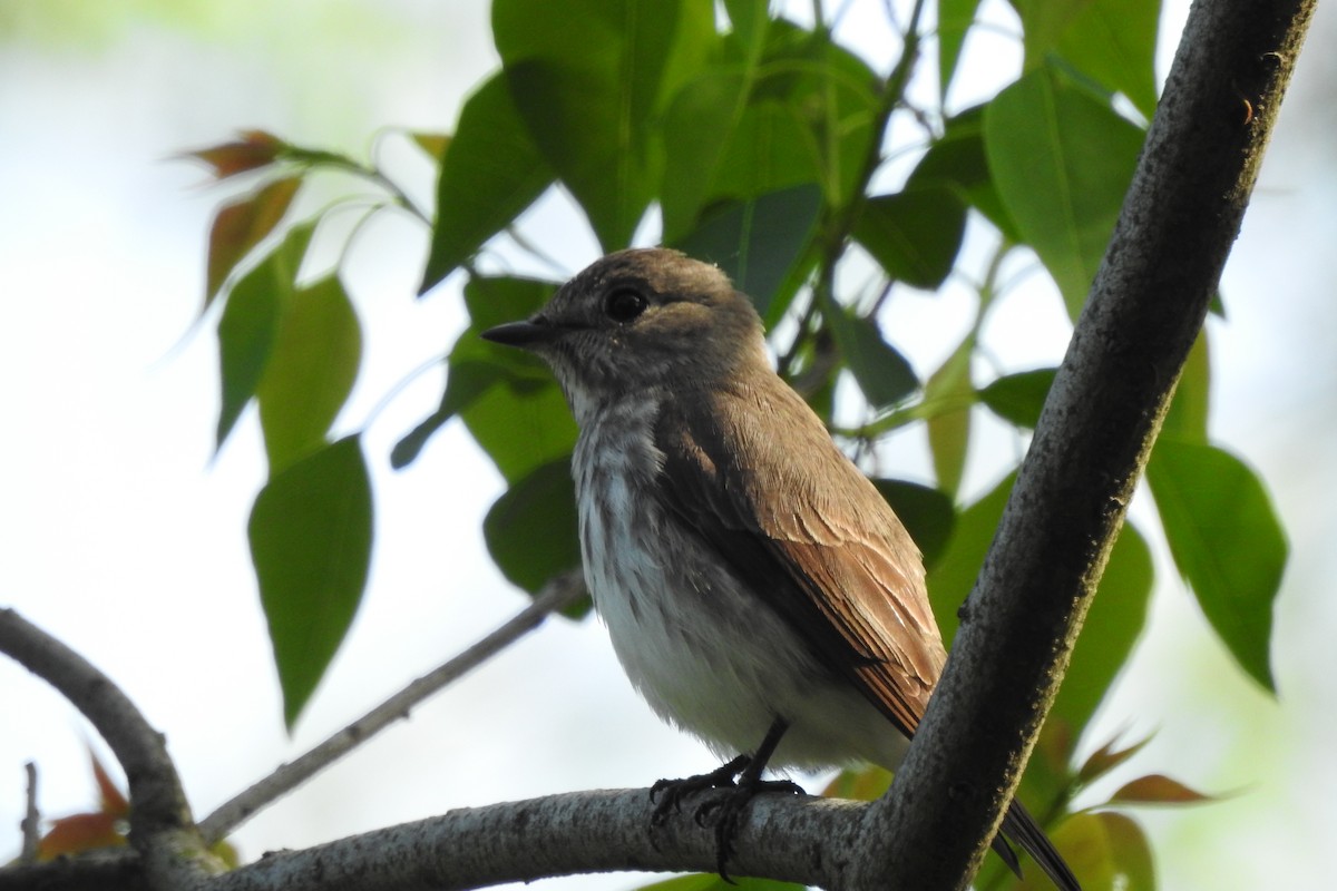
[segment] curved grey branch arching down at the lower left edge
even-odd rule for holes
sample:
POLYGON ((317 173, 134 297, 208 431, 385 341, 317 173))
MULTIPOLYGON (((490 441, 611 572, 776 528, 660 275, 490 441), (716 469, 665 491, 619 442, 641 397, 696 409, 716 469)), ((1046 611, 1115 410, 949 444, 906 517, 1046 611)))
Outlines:
POLYGON ((163 888, 202 878, 190 806, 162 733, 106 675, 12 609, 0 609, 0 652, 55 687, 111 747, 130 785, 130 843, 163 888))

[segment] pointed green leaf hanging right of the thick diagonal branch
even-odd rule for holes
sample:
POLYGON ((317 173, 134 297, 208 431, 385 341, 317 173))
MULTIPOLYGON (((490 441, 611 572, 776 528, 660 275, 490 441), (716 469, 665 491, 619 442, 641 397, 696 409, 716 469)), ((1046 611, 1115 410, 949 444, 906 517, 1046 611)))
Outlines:
POLYGON ((1239 667, 1275 692, 1269 659, 1286 534, 1262 482, 1215 446, 1162 435, 1147 482, 1175 565, 1239 667))

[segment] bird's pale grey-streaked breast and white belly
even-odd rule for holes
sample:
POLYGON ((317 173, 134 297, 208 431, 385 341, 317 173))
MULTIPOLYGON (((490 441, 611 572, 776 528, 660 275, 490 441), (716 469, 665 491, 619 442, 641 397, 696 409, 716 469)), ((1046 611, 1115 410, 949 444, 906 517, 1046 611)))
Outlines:
MULTIPOLYGON (((578 468, 590 445, 583 437, 578 468)), ((635 448, 652 449, 648 438, 619 445, 578 469, 580 542, 595 608, 651 708, 723 757, 754 751, 778 717, 789 732, 775 765, 894 767, 905 740, 892 724, 638 490, 654 481, 635 448)))

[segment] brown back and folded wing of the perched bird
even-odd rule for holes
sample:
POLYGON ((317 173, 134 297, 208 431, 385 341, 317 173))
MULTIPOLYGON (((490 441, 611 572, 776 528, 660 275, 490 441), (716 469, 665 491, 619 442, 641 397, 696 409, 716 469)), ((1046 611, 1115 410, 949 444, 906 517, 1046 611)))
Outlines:
POLYGON ((659 497, 910 735, 947 660, 919 549, 808 405, 757 377, 666 401, 659 497))

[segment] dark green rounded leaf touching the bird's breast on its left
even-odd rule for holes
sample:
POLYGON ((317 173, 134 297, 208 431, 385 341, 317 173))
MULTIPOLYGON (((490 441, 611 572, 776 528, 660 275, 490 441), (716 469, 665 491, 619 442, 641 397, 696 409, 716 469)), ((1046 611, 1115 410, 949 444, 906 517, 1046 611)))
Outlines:
POLYGON ((492 561, 531 594, 558 573, 580 566, 578 529, 571 456, 512 485, 483 520, 492 561))

